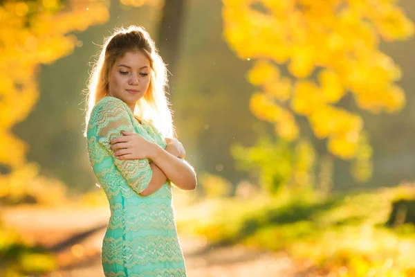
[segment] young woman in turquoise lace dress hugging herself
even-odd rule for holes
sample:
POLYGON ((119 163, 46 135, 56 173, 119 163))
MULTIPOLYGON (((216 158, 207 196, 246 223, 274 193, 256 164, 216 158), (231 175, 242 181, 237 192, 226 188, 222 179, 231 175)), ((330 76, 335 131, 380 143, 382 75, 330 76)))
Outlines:
POLYGON ((171 182, 196 187, 172 137, 166 68, 144 28, 108 37, 89 80, 86 137, 111 217, 102 242, 105 276, 186 276, 171 182))

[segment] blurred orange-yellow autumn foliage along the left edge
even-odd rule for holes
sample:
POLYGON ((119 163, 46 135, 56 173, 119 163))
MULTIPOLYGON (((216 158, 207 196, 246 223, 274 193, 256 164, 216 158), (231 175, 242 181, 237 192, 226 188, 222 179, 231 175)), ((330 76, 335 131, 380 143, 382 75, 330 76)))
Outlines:
POLYGON ((72 53, 77 38, 68 33, 82 31, 109 18, 107 6, 97 1, 4 1, 0 6, 0 164, 10 169, 0 176, 0 198, 10 202, 62 204, 66 189, 59 181, 39 175, 26 161, 28 145, 11 129, 25 120, 39 98, 39 64, 50 64, 72 53), (54 197, 50 197, 50 194, 54 197), (44 195, 44 197, 42 197, 44 195), (46 197, 47 196, 47 197, 46 197))

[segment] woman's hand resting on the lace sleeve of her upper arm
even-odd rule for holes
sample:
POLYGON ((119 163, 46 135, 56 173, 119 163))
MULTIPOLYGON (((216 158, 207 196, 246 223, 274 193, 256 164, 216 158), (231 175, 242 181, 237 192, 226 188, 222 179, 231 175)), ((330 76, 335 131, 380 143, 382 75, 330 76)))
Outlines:
POLYGON ((151 156, 149 141, 140 134, 122 131, 123 136, 113 139, 111 149, 118 159, 146 159, 151 156), (117 151, 116 151, 117 150, 117 151))

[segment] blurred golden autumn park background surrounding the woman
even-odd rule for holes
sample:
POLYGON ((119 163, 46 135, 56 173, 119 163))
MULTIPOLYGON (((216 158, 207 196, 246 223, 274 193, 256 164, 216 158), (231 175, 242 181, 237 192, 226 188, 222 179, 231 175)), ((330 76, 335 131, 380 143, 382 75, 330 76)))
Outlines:
POLYGON ((412 0, 0 0, 0 276, 103 276, 84 97, 104 37, 168 64, 189 276, 415 276, 412 0))

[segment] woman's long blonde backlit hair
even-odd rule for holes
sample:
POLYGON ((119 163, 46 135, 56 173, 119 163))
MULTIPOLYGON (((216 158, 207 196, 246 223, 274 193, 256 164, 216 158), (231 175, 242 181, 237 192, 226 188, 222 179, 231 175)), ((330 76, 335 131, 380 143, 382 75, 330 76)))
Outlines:
POLYGON ((167 69, 158 54, 153 39, 141 26, 117 28, 112 35, 104 39, 100 57, 93 65, 86 90, 84 136, 86 136, 93 107, 96 102, 107 96, 112 66, 122 55, 133 51, 140 51, 146 55, 151 67, 149 88, 145 95, 136 102, 134 116, 152 123, 163 136, 174 136, 172 111, 169 109, 169 101, 165 91, 167 69))

